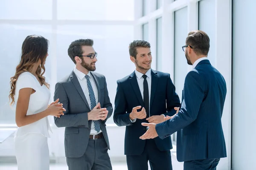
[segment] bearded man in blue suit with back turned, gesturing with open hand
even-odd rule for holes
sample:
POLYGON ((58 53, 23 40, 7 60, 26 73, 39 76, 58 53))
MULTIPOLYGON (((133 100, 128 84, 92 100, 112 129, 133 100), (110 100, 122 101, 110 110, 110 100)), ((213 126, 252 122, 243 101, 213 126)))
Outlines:
POLYGON ((183 46, 189 65, 180 111, 166 122, 143 124, 149 130, 140 138, 169 137, 177 131, 177 160, 184 170, 216 170, 220 158, 227 157, 221 116, 227 93, 224 77, 207 59, 209 37, 191 31, 183 46))

